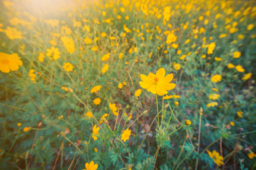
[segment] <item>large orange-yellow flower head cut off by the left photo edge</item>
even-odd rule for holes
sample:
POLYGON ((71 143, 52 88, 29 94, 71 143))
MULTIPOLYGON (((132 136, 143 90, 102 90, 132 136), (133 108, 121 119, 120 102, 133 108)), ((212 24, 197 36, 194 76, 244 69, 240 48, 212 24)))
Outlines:
POLYGON ((22 64, 22 60, 20 60, 20 57, 16 53, 12 55, 0 53, 0 71, 6 73, 10 72, 10 70, 15 71, 22 64))

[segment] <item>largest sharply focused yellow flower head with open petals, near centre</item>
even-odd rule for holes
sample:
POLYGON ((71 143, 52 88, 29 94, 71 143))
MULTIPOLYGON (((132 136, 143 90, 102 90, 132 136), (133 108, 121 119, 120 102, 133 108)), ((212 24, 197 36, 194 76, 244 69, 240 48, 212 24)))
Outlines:
POLYGON ((158 94, 159 96, 166 95, 167 90, 172 90, 175 88, 175 83, 170 83, 174 78, 174 74, 168 74, 164 77, 166 71, 164 68, 159 69, 156 74, 150 72, 148 76, 144 74, 140 74, 140 78, 142 79, 140 83, 140 87, 146 89, 146 91, 150 91, 153 94, 158 94))

